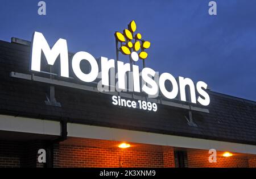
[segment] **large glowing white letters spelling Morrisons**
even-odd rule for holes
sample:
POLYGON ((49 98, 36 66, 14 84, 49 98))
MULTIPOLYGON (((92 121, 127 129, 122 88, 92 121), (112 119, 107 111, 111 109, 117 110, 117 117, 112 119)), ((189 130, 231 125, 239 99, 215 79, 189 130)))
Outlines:
MULTIPOLYGON (((68 47, 65 39, 59 39, 53 45, 49 47, 43 34, 40 32, 34 32, 32 38, 32 53, 30 70, 40 72, 41 70, 41 55, 42 52, 46 57, 47 64, 53 65, 58 56, 60 56, 60 76, 69 77, 69 59, 68 59, 68 47)), ((137 54, 133 53, 131 59, 138 60, 137 54)), ((96 80, 99 74, 99 65, 96 59, 88 52, 77 52, 72 57, 72 70, 75 76, 84 82, 93 82, 96 80), (82 60, 88 61, 90 65, 90 72, 84 73, 80 68, 82 60)), ((109 86, 109 70, 115 69, 115 60, 107 59, 106 57, 100 57, 101 64, 101 84, 109 86)), ((158 73, 151 68, 143 68, 139 72, 139 66, 135 64, 117 61, 117 86, 121 90, 126 90, 126 73, 132 73, 133 91, 148 94, 149 96, 157 97, 158 92, 163 94, 168 99, 179 98, 181 101, 187 101, 187 98, 192 103, 199 102, 201 105, 208 106, 210 103, 210 97, 207 93, 207 84, 203 81, 199 81, 196 85, 190 78, 177 77, 177 80, 170 73, 162 73, 158 76, 158 73), (142 80, 141 80, 142 79, 142 80), (169 88, 166 88, 167 84, 170 84, 169 88), (188 88, 189 90, 187 90, 188 88), (171 89, 171 90, 167 90, 171 89), (186 98, 187 94, 187 98, 186 98), (196 98, 197 95, 197 98, 196 98)))

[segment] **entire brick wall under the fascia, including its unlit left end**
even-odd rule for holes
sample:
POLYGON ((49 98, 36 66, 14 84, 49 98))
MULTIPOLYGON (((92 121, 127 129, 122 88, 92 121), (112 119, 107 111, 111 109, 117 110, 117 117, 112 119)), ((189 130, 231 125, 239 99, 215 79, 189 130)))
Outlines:
MULTIPOLYGON (((53 146, 54 167, 177 167, 175 151, 179 148, 130 143, 118 148, 119 141, 68 138, 53 146)), ((37 151, 45 148, 42 141, 27 143, 0 141, 0 167, 43 167, 37 162, 37 151)), ((186 151, 183 149, 183 151, 186 151)), ((209 163, 207 150, 187 149, 188 167, 256 167, 256 156, 234 153, 223 157, 217 153, 217 163, 209 163)))

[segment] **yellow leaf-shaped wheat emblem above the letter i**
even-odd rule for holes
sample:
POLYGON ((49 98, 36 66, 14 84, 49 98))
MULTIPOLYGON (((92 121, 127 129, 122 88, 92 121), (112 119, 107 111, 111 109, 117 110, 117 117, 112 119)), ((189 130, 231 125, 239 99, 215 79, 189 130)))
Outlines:
POLYGON ((129 23, 128 29, 123 30, 123 34, 121 32, 115 32, 115 39, 120 42, 119 51, 123 55, 131 55, 134 61, 138 60, 138 56, 140 59, 146 59, 147 52, 144 52, 144 49, 150 47, 150 41, 142 40, 140 33, 135 34, 136 28, 136 23, 133 20, 129 23), (137 52, 139 50, 141 51, 138 55, 137 52))

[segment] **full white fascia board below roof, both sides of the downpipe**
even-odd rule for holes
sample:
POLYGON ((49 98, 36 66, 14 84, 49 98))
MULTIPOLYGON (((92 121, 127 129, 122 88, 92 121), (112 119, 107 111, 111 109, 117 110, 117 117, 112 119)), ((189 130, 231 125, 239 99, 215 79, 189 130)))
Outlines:
MULTIPOLYGON (((130 141, 134 143, 207 150, 214 148, 217 151, 230 151, 256 155, 256 145, 155 134, 151 132, 123 130, 110 127, 89 126, 76 123, 68 123, 67 127, 69 137, 130 141)), ((60 122, 10 115, 0 115, 0 130, 58 136, 61 133, 60 122)))

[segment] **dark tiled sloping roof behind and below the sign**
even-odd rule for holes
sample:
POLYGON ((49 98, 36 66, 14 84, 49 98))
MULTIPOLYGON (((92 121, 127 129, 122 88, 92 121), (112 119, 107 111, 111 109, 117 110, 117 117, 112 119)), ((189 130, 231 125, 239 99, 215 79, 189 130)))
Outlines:
POLYGON ((256 145, 256 102, 209 91, 210 113, 158 105, 156 113, 114 106, 110 95, 55 86, 61 107, 46 105, 48 84, 10 77, 30 73, 30 47, 0 41, 0 114, 256 145))

